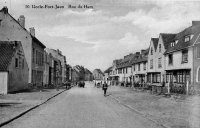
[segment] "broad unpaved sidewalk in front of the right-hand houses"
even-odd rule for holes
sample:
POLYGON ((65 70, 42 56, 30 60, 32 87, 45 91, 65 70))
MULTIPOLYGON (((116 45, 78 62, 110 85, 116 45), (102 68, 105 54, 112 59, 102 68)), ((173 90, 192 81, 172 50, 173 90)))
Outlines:
POLYGON ((168 128, 200 128, 200 96, 150 94, 112 86, 108 94, 119 103, 168 128))

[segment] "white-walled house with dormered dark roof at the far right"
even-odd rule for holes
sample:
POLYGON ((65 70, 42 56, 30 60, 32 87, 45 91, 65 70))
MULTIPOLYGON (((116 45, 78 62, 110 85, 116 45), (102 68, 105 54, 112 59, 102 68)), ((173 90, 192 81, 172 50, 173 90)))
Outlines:
MULTIPOLYGON (((192 26, 177 33, 176 37, 165 52, 166 62, 166 82, 171 82, 172 87, 186 86, 195 83, 194 69, 194 44, 200 34, 200 22, 193 22, 192 26)), ((198 61, 198 59, 197 59, 198 61)), ((195 63, 197 64, 197 63, 195 63)))

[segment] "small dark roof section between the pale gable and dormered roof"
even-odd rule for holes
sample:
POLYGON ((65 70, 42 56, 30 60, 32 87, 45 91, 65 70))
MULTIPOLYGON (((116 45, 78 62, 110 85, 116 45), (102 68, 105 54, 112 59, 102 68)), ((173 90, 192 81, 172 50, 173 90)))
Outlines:
POLYGON ((163 39, 164 48, 167 49, 169 44, 174 40, 176 34, 172 33, 160 33, 160 36, 163 39))

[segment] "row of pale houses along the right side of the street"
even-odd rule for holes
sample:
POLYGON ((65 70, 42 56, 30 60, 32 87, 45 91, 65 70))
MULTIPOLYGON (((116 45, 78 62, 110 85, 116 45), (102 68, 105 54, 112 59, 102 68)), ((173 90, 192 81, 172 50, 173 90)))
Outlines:
MULTIPOLYGON (((114 60, 105 74, 111 84, 200 89, 200 21, 178 33, 160 33, 147 49, 114 60)), ((173 90, 174 88, 174 90, 173 90)))

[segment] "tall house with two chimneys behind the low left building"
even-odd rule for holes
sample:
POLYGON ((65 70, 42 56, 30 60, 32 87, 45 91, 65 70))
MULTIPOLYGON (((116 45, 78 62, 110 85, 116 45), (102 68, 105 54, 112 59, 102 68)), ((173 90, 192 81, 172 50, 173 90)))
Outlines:
POLYGON ((1 41, 20 41, 29 67, 28 82, 42 85, 43 83, 43 54, 45 45, 35 37, 35 29, 25 28, 25 17, 18 20, 8 13, 8 8, 0 10, 0 39, 1 41))

